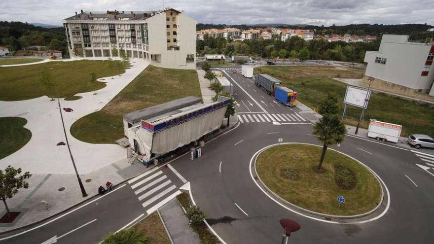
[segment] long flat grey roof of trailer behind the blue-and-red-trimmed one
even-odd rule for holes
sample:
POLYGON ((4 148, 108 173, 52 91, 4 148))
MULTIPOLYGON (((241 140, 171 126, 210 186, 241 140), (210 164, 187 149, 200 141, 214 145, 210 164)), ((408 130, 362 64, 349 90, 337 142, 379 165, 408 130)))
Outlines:
POLYGON ((201 104, 202 100, 196 97, 185 97, 177 100, 170 101, 168 103, 147 107, 141 110, 137 110, 131 113, 127 113, 123 116, 123 119, 130 124, 140 123, 142 120, 148 120, 150 118, 167 114, 172 111, 179 110, 191 105, 201 104))

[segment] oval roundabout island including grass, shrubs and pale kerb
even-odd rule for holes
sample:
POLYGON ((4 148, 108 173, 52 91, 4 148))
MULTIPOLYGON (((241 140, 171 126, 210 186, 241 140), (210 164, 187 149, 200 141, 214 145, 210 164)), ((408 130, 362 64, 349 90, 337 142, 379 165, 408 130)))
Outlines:
POLYGON ((322 173, 317 173, 320 153, 321 146, 313 144, 270 145, 253 156, 253 179, 273 198, 308 214, 356 219, 375 212, 383 200, 378 176, 332 149, 327 150, 322 173), (336 201, 341 195, 346 204, 336 201))

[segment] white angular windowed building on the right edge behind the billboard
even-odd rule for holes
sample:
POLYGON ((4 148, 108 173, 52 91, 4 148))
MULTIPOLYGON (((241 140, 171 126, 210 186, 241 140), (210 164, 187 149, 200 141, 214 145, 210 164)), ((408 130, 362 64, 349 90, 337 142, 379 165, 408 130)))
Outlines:
POLYGON ((421 92, 434 96, 434 43, 409 42, 408 35, 383 35, 378 51, 366 51, 366 76, 373 88, 402 95, 421 92))

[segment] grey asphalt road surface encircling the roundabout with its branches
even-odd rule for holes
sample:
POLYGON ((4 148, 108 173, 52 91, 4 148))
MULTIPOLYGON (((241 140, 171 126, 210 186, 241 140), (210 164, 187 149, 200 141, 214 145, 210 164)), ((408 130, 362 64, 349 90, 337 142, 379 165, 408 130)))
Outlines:
MULTIPOLYGON (((244 78, 240 71, 233 73, 237 69, 239 66, 223 70, 235 80, 236 109, 243 123, 207 143, 199 159, 192 161, 186 155, 171 163, 190 181, 196 204, 207 213, 208 222, 226 243, 280 243, 281 218, 294 219, 301 225, 289 243, 433 243, 434 171, 417 166, 426 165, 423 155, 408 150, 349 136, 340 147, 333 147, 366 164, 387 185, 390 209, 377 220, 353 225, 325 223, 284 209, 267 197, 249 172, 253 154, 277 143, 279 138, 283 142, 320 143, 310 136, 312 125, 300 117, 297 108, 277 104, 255 87, 252 79, 244 78)), ((172 170, 162 167, 58 219, 41 223, 43 226, 2 235, 0 243, 42 243, 54 236, 57 243, 97 243, 109 232, 145 216, 147 210, 175 194, 183 183, 172 170), (147 187, 162 177, 167 178, 147 187), (161 182, 166 180, 171 182, 162 187, 161 182), (142 188, 146 189, 137 193, 142 188), (144 207, 149 201, 152 204, 144 207), (10 238, 4 239, 6 236, 10 238)))

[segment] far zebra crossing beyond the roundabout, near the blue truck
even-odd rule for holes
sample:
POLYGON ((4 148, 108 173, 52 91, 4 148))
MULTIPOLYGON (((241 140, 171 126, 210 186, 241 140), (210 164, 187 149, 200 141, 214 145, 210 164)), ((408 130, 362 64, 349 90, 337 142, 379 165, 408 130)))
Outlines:
POLYGON ((256 122, 306 122, 298 113, 243 113, 238 114, 241 123, 256 122))

